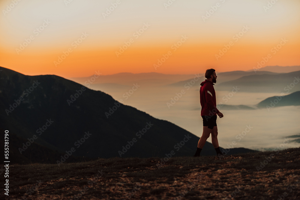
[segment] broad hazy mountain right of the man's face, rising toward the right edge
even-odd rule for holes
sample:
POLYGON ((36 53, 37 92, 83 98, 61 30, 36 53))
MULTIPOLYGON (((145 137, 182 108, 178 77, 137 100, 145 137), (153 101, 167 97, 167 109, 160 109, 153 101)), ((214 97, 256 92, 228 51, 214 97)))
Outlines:
POLYGON ((238 87, 240 89, 239 92, 290 93, 300 90, 299 76, 300 71, 247 75, 216 85, 215 90, 231 91, 232 87, 238 87))

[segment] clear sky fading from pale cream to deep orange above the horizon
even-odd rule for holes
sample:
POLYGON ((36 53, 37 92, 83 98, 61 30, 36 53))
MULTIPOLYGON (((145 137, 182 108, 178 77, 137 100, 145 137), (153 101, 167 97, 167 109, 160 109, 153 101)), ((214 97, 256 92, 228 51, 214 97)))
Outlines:
POLYGON ((271 58, 263 66, 300 65, 299 0, 273 0, 268 10, 264 8, 268 1, 258 0, 176 0, 167 8, 168 0, 120 0, 105 19, 102 13, 117 0, 17 2, 13 5, 11 0, 0 1, 0 66, 26 75, 69 78, 89 76, 95 71, 107 75, 193 74, 208 68, 217 72, 250 70, 268 54, 271 58), (216 4, 219 7, 214 7, 216 4), (212 14, 204 21, 202 16, 209 10, 212 14), (44 30, 34 31, 43 23, 44 30), (144 23, 150 26, 146 28, 144 23), (146 30, 135 37, 143 26, 146 30), (243 26, 249 30, 244 29, 236 41, 233 36, 243 26), (73 42, 82 33, 88 36, 75 48, 73 42), (174 51, 174 43, 182 36, 188 38, 174 51), (34 40, 17 52, 30 37, 34 40), (134 42, 117 57, 116 51, 131 38, 134 42), (281 49, 272 51, 284 38, 288 41, 281 49), (215 55, 231 41, 233 45, 217 60, 215 55), (55 66, 54 61, 69 48, 72 52, 55 66), (155 69, 154 64, 168 51, 172 54, 155 69))

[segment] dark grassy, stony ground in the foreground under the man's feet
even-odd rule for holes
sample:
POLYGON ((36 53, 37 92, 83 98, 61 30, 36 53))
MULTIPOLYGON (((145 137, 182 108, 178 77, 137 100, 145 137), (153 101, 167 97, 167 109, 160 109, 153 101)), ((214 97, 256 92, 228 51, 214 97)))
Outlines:
MULTIPOLYGON (((300 148, 222 159, 116 157, 60 166, 16 164, 9 168, 9 198, 299 199, 299 166, 300 148)), ((3 192, 0 198, 8 199, 3 192)))

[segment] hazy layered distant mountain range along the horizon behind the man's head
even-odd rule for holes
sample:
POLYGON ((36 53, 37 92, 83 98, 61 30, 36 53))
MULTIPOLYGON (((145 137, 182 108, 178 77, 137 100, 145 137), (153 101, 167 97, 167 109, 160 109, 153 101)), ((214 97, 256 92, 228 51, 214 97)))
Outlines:
MULTIPOLYGON (((267 66, 257 71, 217 72, 215 90, 230 91, 232 87, 240 86, 242 88, 240 91, 243 92, 284 92, 286 85, 293 81, 293 75, 298 76, 299 70, 300 66, 267 66)), ((70 80, 83 84, 90 89, 104 91, 109 94, 117 94, 119 91, 129 90, 133 83, 141 84, 143 87, 184 87, 187 83, 193 83, 196 76, 200 77, 196 85, 199 85, 205 80, 204 73, 172 75, 156 72, 138 74, 118 73, 113 75, 101 75, 100 78, 97 79, 90 76, 70 78, 70 80)), ((296 85, 295 90, 299 90, 299 88, 300 84, 296 85)))

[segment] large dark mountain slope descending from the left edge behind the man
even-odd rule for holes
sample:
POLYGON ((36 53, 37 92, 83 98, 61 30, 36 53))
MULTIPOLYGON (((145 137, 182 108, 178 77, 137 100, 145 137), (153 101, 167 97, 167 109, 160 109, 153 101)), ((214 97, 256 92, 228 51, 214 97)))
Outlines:
MULTIPOLYGON (((77 157, 119 157, 122 149, 122 157, 165 157, 171 151, 174 156, 194 154, 199 137, 120 104, 106 93, 56 75, 27 76, 0 69, 1 127, 18 137, 36 135, 34 143, 62 155, 74 148, 72 156, 77 157), (128 145, 132 146, 123 148, 128 145)), ((211 143, 205 144, 203 154, 215 154, 211 143)))

